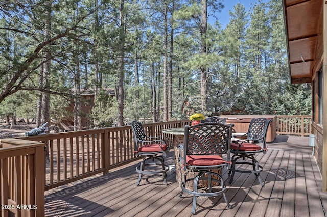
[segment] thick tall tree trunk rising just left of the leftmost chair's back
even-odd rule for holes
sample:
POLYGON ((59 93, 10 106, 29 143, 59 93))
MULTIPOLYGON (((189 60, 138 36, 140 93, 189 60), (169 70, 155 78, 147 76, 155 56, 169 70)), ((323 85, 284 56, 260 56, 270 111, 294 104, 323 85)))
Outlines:
POLYGON ((124 125, 124 58, 125 58, 125 20, 124 0, 121 0, 120 7, 120 50, 118 68, 118 126, 124 125))

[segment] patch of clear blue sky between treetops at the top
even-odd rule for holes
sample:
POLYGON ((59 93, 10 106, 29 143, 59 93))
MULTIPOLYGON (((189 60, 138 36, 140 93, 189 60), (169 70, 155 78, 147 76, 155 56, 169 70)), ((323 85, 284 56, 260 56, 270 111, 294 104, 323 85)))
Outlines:
POLYGON ((234 5, 238 3, 244 5, 246 11, 249 11, 250 8, 256 3, 256 0, 224 0, 225 8, 220 13, 216 14, 223 29, 225 29, 225 26, 229 23, 229 11, 233 11, 234 5))

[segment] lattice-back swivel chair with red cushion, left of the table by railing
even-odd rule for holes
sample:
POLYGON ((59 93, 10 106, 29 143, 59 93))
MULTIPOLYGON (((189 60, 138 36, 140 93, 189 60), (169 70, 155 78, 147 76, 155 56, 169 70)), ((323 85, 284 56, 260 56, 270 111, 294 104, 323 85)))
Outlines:
POLYGON ((164 157, 169 153, 169 147, 165 140, 162 137, 148 137, 140 122, 132 121, 130 125, 134 134, 134 153, 137 156, 143 156, 141 164, 136 167, 136 172, 139 173, 136 185, 139 186, 143 174, 160 173, 164 176, 164 183, 168 185, 166 172, 169 170, 169 166, 165 164, 164 157))

